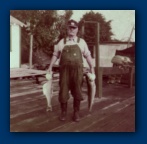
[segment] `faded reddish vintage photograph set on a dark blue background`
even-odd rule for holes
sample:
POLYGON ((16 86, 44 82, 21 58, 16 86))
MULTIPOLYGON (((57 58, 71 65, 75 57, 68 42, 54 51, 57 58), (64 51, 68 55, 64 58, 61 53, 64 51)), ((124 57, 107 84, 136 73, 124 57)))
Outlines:
POLYGON ((10 10, 10 132, 135 132, 135 10, 10 10))

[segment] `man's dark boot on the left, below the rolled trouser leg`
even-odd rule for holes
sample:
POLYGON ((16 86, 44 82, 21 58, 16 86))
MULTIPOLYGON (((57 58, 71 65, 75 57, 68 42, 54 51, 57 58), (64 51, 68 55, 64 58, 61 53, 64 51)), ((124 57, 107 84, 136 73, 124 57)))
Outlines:
POLYGON ((67 103, 61 103, 61 114, 59 119, 61 121, 65 121, 66 120, 66 114, 67 114, 67 103))

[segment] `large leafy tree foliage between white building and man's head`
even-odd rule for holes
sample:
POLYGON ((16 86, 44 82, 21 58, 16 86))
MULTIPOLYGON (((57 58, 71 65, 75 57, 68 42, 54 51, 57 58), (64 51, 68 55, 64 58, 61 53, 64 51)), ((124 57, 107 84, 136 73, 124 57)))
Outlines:
POLYGON ((22 48, 30 48, 30 34, 33 34, 33 50, 42 50, 51 55, 53 46, 66 35, 65 23, 72 15, 71 10, 66 10, 59 15, 57 10, 11 10, 10 14, 27 24, 22 28, 22 48))

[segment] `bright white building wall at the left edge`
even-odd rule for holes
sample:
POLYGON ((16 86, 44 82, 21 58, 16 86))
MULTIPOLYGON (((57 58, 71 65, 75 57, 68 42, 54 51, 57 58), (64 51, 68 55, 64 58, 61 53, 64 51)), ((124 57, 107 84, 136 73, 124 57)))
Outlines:
POLYGON ((19 68, 20 59, 20 26, 10 25, 10 68, 19 68))

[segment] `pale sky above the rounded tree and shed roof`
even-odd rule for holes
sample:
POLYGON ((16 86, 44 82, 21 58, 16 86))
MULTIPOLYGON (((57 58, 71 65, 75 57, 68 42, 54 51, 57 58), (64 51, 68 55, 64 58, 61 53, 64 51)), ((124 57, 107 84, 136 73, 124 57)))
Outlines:
MULTIPOLYGON (((73 15, 71 19, 80 21, 83 14, 89 12, 90 10, 73 10, 73 15)), ((106 21, 112 20, 111 28, 114 36, 122 41, 128 41, 131 32, 131 41, 135 41, 135 10, 93 10, 94 12, 99 12, 103 15, 106 21)))

